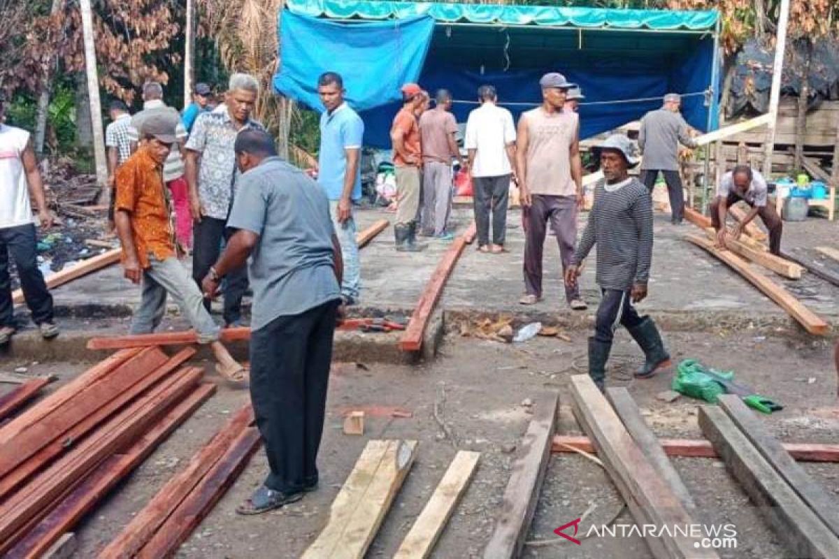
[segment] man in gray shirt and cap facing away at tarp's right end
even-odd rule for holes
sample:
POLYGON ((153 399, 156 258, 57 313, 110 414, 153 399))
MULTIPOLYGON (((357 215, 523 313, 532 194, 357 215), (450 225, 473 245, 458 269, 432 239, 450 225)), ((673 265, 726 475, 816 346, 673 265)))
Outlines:
POLYGON ((679 143, 688 148, 696 148, 696 142, 688 132, 687 122, 679 113, 680 106, 681 97, 676 93, 668 93, 664 96, 664 106, 644 115, 638 132, 638 147, 644 152, 641 180, 652 194, 659 171, 664 174, 673 212, 670 221, 674 225, 681 225, 685 214, 685 194, 679 176, 679 143))

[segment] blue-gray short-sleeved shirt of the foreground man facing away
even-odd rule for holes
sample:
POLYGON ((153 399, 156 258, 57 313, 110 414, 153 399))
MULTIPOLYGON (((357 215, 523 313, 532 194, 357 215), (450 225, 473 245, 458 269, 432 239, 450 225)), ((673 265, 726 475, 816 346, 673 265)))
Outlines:
POLYGON ((259 236, 248 259, 251 329, 340 299, 323 189, 280 158, 264 159, 238 182, 227 226, 259 236))

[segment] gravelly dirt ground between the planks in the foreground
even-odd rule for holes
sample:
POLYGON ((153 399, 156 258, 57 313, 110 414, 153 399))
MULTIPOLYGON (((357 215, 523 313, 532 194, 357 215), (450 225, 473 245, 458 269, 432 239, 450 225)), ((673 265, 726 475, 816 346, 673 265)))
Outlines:
MULTIPOLYGON (((492 531, 516 445, 531 417, 531 410, 522 405, 523 401, 536 399, 543 391, 560 391, 560 432, 579 432, 567 407, 570 406, 567 385, 569 375, 585 370, 587 332, 568 334, 571 343, 536 338, 524 344, 498 344, 462 338, 452 332, 442 346, 442 355, 429 364, 335 364, 320 452, 320 489, 278 512, 256 517, 236 515, 236 505, 266 474, 260 451, 211 515, 180 548, 178 556, 190 559, 300 556, 325 524, 331 501, 366 441, 380 437, 416 439, 420 445, 413 468, 367 556, 393 554, 456 449, 479 451, 481 461, 434 556, 480 556, 492 531), (435 402, 455 440, 446 437, 435 420, 435 402), (367 417, 362 437, 344 435, 340 411, 356 406, 399 406, 411 411, 413 417, 367 417)), ((829 344, 825 341, 748 332, 667 333, 666 337, 675 358, 693 357, 718 368, 735 370, 738 380, 781 401, 784 411, 765 417, 764 422, 784 441, 835 442, 839 427, 836 375, 829 344)), ((696 401, 681 397, 668 404, 656 398, 656 394, 669 387, 670 374, 652 380, 630 380, 629 371, 639 357, 628 335, 619 333, 610 362, 610 384, 628 386, 659 436, 699 437, 696 401)), ((83 364, 32 365, 9 360, 0 368, 12 372, 18 366, 28 368, 25 375, 55 374, 61 381, 86 367, 83 364)), ((208 373, 207 380, 218 379, 208 373)), ((95 556, 247 401, 247 391, 219 386, 211 400, 83 521, 77 531, 80 549, 76 556, 95 556)), ((755 559, 787 556, 721 462, 675 458, 674 463, 696 499, 701 520, 736 525, 737 549, 721 550, 721 556, 755 559)), ((806 469, 827 491, 839 493, 839 464, 807 464, 806 469)), ((623 500, 597 464, 576 454, 555 454, 528 540, 555 540, 553 530, 557 526, 579 517, 591 505, 595 508, 581 523, 581 533, 586 533, 592 523, 599 525, 612 520, 622 509, 623 500)), ((616 521, 631 524, 632 517, 623 510, 616 521)), ((592 536, 583 540, 581 546, 570 542, 529 545, 524 556, 640 559, 648 557, 649 551, 638 538, 592 536)))

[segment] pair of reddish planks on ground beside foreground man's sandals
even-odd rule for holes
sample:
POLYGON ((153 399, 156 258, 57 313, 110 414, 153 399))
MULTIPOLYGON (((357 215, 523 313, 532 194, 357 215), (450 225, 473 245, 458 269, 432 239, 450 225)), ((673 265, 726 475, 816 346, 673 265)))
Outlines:
POLYGON ((173 556, 248 464, 260 443, 253 409, 242 407, 230 422, 169 479, 149 504, 99 554, 117 557, 173 556))

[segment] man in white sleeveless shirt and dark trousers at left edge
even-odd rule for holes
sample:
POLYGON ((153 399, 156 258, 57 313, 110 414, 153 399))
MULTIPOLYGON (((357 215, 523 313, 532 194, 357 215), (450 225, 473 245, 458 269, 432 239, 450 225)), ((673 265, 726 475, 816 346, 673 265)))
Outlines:
MULTIPOLYGON (((6 98, 0 93, 0 122, 6 98)), ((18 270, 23 298, 44 339, 55 338, 52 296, 38 268, 37 240, 29 195, 38 206, 44 229, 52 226, 52 215, 44 199, 44 184, 38 170, 29 132, 0 124, 0 345, 16 331, 12 302, 9 256, 18 270)))

